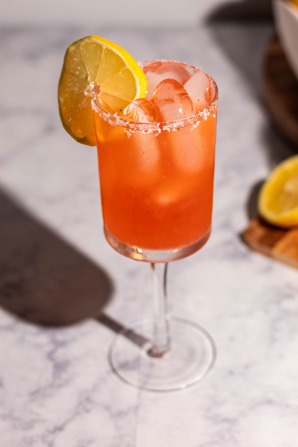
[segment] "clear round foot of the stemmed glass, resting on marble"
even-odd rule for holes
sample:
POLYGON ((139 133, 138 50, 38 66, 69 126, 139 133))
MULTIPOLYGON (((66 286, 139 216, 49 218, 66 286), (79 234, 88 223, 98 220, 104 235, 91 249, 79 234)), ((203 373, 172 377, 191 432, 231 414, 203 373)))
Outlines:
POLYGON ((216 350, 206 330, 182 318, 167 318, 171 348, 162 356, 152 353, 152 318, 137 321, 113 339, 109 362, 126 383, 151 391, 182 390, 204 379, 213 367, 216 350))

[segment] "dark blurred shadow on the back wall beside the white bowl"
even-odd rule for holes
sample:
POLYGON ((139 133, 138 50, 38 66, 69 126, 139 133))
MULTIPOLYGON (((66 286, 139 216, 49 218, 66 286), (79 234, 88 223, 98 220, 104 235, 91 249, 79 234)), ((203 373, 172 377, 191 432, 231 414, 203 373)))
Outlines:
POLYGON ((215 9, 210 20, 272 20, 271 0, 227 2, 215 9))

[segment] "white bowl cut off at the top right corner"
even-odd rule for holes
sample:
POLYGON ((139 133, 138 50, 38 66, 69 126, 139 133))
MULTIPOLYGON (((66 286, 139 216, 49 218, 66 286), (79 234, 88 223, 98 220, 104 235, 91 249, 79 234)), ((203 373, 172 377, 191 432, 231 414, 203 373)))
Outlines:
POLYGON ((273 14, 281 45, 298 79, 298 7, 289 0, 274 0, 273 14))

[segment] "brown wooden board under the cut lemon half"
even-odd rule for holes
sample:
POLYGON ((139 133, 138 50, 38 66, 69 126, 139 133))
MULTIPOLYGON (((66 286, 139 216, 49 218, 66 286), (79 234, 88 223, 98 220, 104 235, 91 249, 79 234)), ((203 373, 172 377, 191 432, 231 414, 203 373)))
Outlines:
POLYGON ((298 228, 286 230, 253 219, 242 237, 253 250, 298 268, 298 228))

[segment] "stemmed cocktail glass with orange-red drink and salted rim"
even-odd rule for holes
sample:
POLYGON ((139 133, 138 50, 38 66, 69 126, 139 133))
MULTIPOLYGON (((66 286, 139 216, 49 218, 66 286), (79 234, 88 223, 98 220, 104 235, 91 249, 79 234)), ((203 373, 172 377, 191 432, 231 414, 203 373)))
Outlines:
POLYGON ((209 80, 210 104, 173 122, 126 121, 106 112, 93 90, 105 237, 124 256, 151 263, 153 275, 153 316, 123 329, 109 348, 113 371, 139 388, 184 389, 215 360, 210 335, 169 316, 166 296, 168 262, 195 253, 211 231, 218 89, 209 80))

